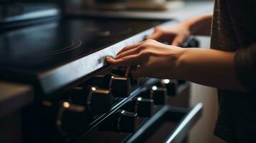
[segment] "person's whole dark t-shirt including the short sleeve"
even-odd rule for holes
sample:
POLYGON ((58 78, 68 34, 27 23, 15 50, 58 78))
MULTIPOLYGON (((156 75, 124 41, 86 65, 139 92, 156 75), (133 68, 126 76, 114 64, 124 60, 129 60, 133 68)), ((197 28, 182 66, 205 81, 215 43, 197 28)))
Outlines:
POLYGON ((218 90, 219 115, 214 134, 227 142, 254 142, 256 136, 255 3, 254 0, 216 0, 214 5, 211 47, 236 52, 234 69, 248 90, 218 90))

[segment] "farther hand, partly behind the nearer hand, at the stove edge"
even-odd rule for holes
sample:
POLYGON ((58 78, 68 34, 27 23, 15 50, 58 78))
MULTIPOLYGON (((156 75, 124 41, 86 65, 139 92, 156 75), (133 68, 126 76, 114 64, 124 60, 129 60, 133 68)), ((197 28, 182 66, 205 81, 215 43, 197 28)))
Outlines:
POLYGON ((168 42, 174 46, 182 46, 184 41, 191 35, 189 25, 186 23, 177 24, 169 28, 156 26, 155 31, 147 39, 154 39, 156 41, 168 42))

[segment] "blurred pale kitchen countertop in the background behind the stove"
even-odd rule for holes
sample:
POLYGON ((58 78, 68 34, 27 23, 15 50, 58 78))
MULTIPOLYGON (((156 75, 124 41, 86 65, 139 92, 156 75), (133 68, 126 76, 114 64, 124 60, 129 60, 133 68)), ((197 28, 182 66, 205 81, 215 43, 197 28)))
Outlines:
MULTIPOLYGON (((170 3, 171 1, 169 1, 170 3)), ((183 21, 192 16, 212 13, 214 9, 213 1, 184 1, 184 4, 177 4, 170 9, 162 11, 147 10, 99 10, 99 9, 69 9, 67 14, 71 16, 100 16, 113 18, 129 18, 129 19, 152 19, 152 20, 170 20, 176 19, 183 21)))

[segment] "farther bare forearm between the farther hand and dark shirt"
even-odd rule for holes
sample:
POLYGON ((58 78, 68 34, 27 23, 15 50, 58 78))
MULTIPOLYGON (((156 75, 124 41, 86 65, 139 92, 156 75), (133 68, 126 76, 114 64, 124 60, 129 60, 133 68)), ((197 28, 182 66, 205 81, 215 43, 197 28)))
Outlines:
POLYGON ((189 27, 191 35, 209 36, 212 26, 212 14, 196 16, 183 22, 189 27))

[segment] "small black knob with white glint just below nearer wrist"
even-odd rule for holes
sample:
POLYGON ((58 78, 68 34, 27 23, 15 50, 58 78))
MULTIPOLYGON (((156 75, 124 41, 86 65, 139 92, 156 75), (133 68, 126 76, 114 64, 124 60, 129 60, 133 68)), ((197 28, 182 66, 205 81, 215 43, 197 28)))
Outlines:
POLYGON ((178 82, 171 79, 162 79, 159 87, 165 87, 167 94, 171 97, 177 94, 178 82))

